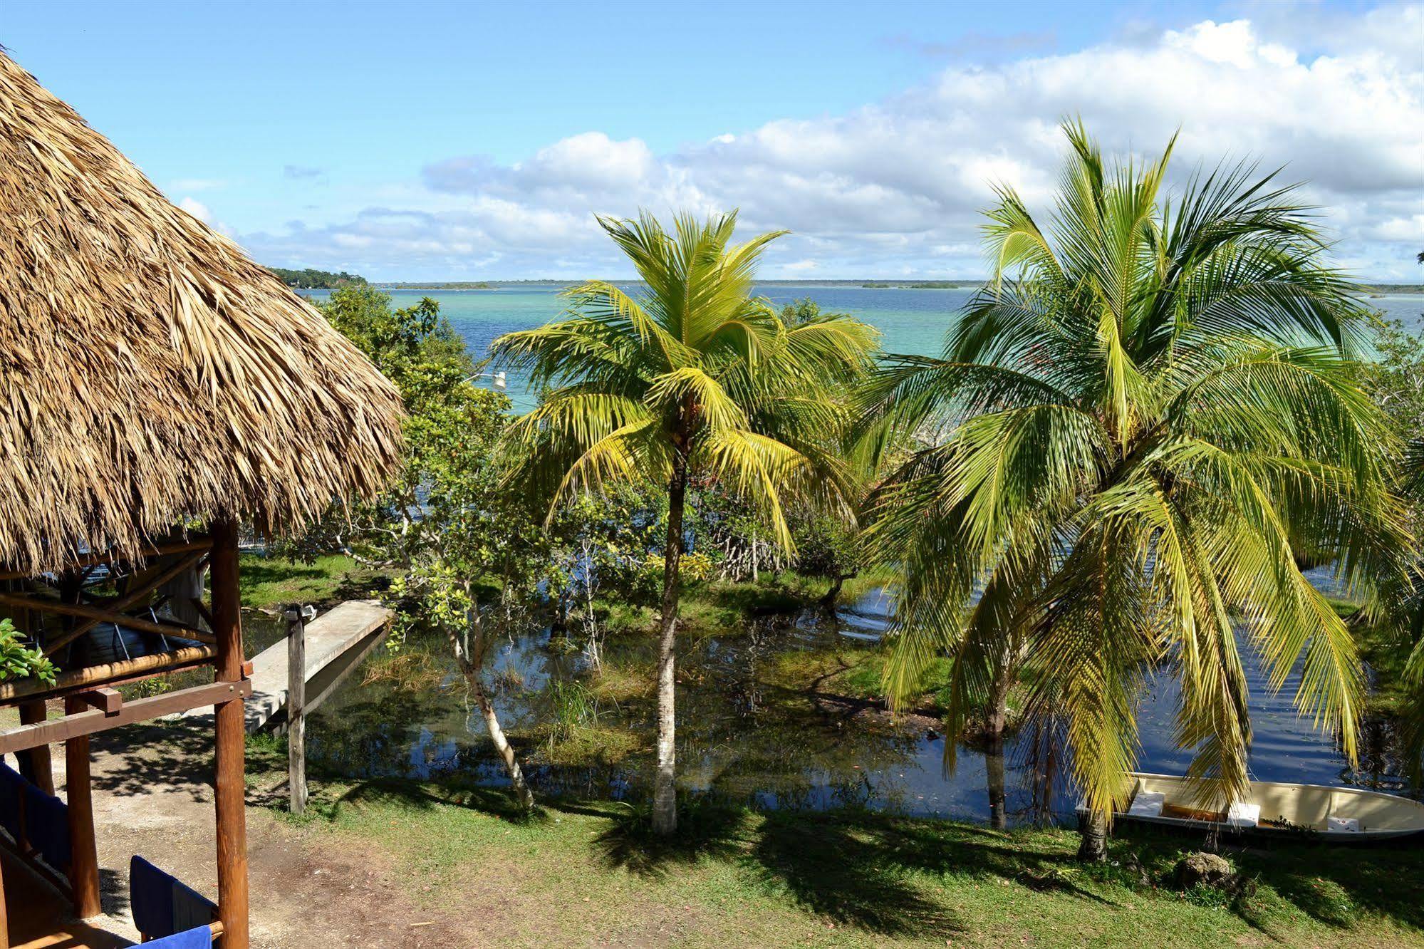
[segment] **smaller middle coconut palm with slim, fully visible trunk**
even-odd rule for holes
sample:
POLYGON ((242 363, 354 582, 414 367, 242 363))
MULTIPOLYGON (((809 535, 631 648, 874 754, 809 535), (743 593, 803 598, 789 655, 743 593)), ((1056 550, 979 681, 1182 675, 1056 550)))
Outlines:
POLYGON ((548 386, 514 436, 521 479, 554 492, 609 482, 666 490, 658 641, 654 829, 676 826, 674 683, 684 509, 693 477, 752 502, 790 547, 785 503, 844 507, 850 474, 834 452, 849 410, 839 395, 870 366, 876 332, 849 316, 783 323, 752 295, 762 251, 782 232, 731 245, 736 214, 600 218, 642 286, 592 281, 570 291, 567 319, 494 341, 496 359, 548 386))

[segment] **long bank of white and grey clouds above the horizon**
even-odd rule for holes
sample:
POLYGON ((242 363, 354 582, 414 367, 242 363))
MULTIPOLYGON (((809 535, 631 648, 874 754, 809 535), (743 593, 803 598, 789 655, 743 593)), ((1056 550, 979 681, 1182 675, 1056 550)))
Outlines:
POLYGON ((977 212, 993 185, 1044 207, 1058 121, 1081 115, 1116 152, 1156 152, 1180 128, 1176 187, 1222 158, 1284 164, 1284 180, 1309 182, 1304 197, 1321 207, 1343 264, 1414 279, 1424 7, 1381 7, 1333 31, 1309 33, 1303 19, 1208 20, 953 66, 847 114, 772 121, 668 154, 584 131, 514 164, 450 157, 423 170, 409 207, 244 241, 262 259, 393 276, 624 275, 594 214, 739 207, 748 231, 796 232, 776 245, 769 275, 973 276, 984 272, 977 212))

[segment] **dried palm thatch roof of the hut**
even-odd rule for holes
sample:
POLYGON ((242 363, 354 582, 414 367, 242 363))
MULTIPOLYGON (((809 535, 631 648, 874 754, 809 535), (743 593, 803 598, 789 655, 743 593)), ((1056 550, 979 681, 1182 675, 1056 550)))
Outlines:
POLYGON ((0 53, 0 561, 299 527, 400 453, 394 388, 0 53))

